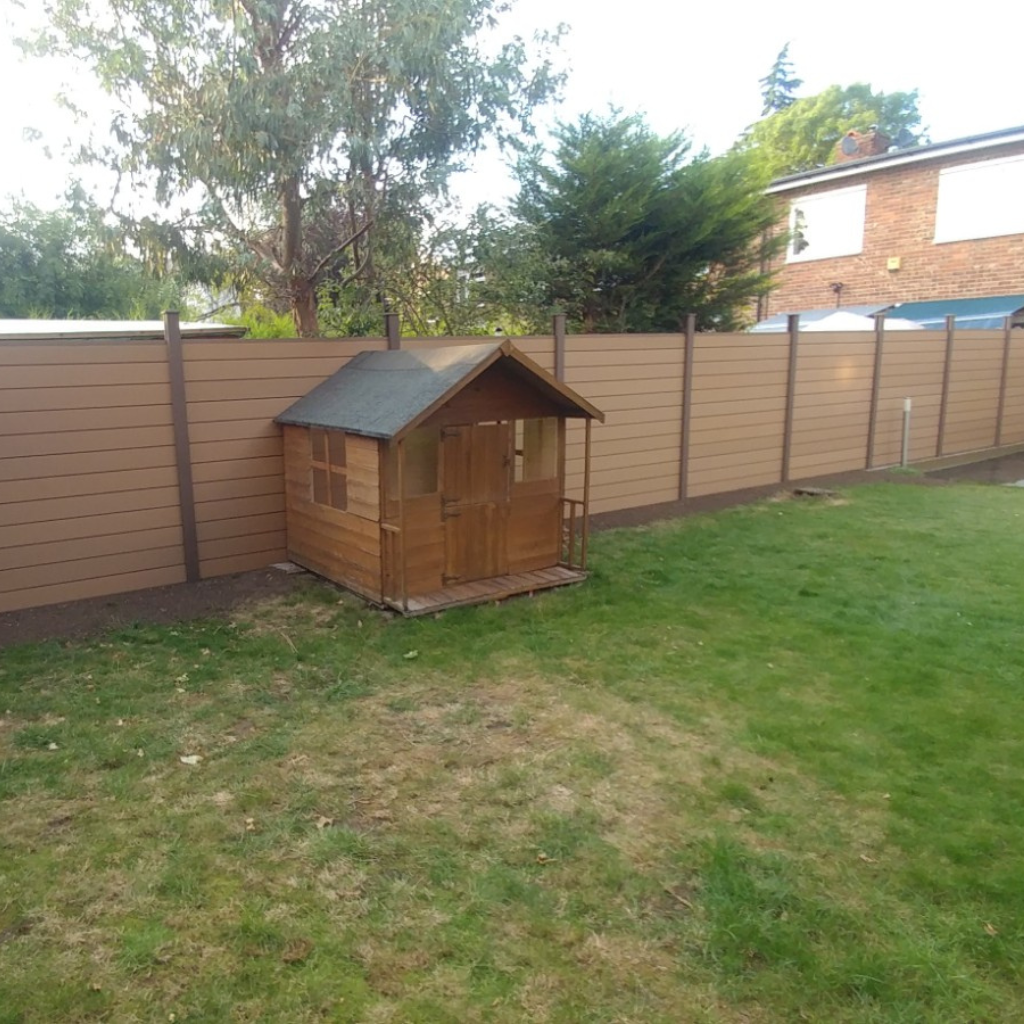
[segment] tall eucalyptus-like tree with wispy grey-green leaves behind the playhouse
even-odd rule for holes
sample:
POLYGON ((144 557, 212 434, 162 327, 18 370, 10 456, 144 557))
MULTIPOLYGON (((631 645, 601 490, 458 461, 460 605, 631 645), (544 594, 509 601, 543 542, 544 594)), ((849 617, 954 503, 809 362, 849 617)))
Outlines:
POLYGON ((136 237, 241 254, 264 301, 314 334, 323 281, 375 284, 382 219, 442 195, 488 137, 527 132, 559 84, 551 37, 486 37, 507 7, 45 0, 35 45, 83 60, 116 100, 110 143, 85 156, 152 187, 167 216, 131 217, 136 237))

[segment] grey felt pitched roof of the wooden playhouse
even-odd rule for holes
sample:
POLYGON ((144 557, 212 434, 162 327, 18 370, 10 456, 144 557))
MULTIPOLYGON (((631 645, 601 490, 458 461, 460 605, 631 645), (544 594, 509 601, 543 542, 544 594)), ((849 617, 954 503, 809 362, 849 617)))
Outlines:
POLYGON ((399 437, 500 360, 561 407, 565 416, 604 419, 599 410, 506 340, 360 352, 285 410, 278 423, 367 437, 399 437))

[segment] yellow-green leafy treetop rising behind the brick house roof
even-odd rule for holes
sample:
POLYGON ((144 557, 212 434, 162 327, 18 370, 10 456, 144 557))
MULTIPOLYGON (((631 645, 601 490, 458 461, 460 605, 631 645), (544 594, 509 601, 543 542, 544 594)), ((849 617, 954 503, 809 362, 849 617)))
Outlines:
POLYGON ((769 179, 777 178, 829 163, 847 132, 872 125, 894 141, 918 144, 923 135, 916 89, 887 94, 869 85, 831 85, 752 125, 737 148, 749 152, 769 179))

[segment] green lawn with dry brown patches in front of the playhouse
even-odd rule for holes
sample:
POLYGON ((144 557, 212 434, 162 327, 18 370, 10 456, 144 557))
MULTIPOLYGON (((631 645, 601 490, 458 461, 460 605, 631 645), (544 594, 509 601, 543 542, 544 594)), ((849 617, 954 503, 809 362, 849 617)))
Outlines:
POLYGON ((846 499, 4 651, 0 1021, 1020 1020, 1024 495, 846 499))

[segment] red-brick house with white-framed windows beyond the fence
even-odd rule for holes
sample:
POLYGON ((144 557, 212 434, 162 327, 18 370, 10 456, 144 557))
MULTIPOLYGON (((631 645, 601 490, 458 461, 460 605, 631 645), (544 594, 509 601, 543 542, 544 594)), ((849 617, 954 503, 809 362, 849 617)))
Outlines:
POLYGON ((836 163, 771 183, 791 239, 759 321, 1024 293, 1024 126, 889 144, 851 132, 836 163))

